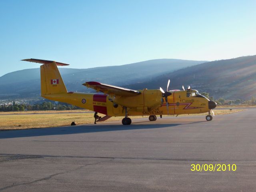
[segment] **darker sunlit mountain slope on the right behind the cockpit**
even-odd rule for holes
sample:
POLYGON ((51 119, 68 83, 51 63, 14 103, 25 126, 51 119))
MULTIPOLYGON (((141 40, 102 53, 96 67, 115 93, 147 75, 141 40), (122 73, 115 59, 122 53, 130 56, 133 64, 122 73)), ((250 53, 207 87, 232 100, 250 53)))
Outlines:
POLYGON ((170 78, 170 89, 189 85, 214 98, 250 99, 256 96, 256 55, 228 60, 217 60, 168 72, 145 82, 130 84, 132 89, 165 89, 170 78))

